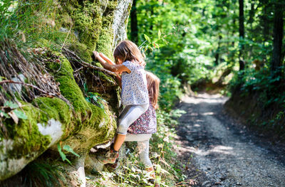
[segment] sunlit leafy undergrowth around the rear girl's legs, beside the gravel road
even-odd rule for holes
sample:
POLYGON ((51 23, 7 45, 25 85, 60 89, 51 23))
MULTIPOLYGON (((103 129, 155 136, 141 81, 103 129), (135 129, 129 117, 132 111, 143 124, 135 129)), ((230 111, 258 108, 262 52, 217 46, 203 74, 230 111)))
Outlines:
MULTIPOLYGON (((177 117, 184 111, 157 111, 157 132, 150 140, 150 159, 155 167, 156 180, 160 186, 183 186, 186 176, 175 153, 175 126, 177 117)), ((126 158, 120 161, 115 171, 101 171, 97 176, 87 176, 89 186, 153 186, 149 183, 150 173, 140 162, 135 142, 128 142, 126 158)))

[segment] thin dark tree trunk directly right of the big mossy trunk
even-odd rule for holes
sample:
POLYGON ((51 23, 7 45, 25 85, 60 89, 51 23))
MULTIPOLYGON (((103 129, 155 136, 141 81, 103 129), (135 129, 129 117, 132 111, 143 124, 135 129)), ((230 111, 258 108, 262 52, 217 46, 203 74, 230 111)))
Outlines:
POLYGON ((137 0, 133 0, 133 6, 130 10, 130 39, 138 43, 138 18, 137 18, 137 0))

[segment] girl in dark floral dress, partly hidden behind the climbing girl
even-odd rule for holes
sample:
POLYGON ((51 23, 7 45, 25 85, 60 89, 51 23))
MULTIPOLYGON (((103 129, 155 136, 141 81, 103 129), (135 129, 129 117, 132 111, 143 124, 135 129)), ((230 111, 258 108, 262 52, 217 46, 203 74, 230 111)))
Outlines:
MULTIPOLYGON (((155 180, 155 173, 148 156, 150 137, 156 132, 157 121, 155 109, 158 108, 157 97, 159 93, 160 79, 154 74, 147 72, 147 90, 150 98, 150 105, 145 113, 143 113, 133 124, 128 128, 128 134, 125 141, 138 141, 138 150, 140 154, 140 160, 147 171, 152 172, 152 183, 155 180)), ((155 186, 159 186, 155 183, 155 186)))

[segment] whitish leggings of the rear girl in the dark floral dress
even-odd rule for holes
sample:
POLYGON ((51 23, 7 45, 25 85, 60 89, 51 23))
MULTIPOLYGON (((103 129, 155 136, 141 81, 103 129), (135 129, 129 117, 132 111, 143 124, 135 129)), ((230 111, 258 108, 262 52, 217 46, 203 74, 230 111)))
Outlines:
POLYGON ((147 168, 152 166, 148 156, 151 136, 152 134, 127 134, 125 137, 125 141, 138 141, 138 154, 140 155, 140 160, 147 168))

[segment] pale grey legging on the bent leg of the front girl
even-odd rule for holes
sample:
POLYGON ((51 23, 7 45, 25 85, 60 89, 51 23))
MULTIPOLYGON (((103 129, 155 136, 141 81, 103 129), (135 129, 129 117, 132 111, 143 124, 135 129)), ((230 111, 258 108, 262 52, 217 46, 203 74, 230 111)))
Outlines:
POLYGON ((120 113, 118 120, 118 134, 126 135, 130 124, 135 122, 141 114, 145 113, 148 108, 148 103, 144 105, 127 105, 120 113))

